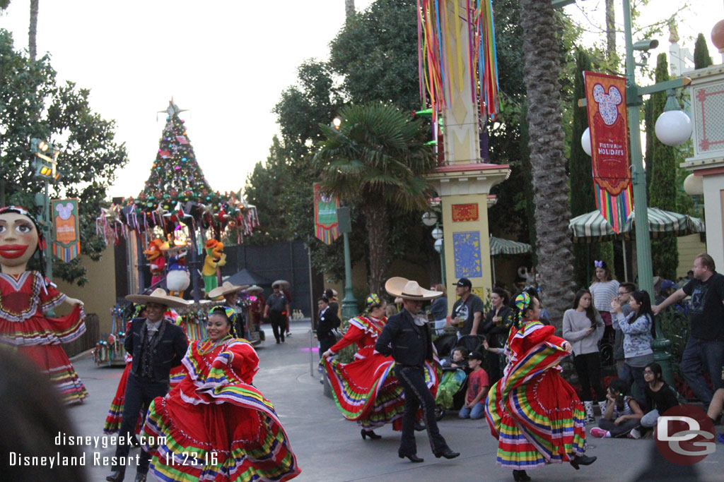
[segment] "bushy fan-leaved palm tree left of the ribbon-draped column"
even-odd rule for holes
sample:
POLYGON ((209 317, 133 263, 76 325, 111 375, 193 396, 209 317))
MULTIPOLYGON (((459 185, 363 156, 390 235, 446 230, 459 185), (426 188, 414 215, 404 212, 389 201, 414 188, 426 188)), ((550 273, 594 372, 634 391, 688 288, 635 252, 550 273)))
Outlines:
POLYGON ((369 288, 382 289, 390 261, 390 210, 424 210, 434 192, 422 173, 434 168, 427 131, 394 106, 348 106, 339 129, 320 124, 327 139, 314 156, 327 194, 357 205, 369 240, 369 288))

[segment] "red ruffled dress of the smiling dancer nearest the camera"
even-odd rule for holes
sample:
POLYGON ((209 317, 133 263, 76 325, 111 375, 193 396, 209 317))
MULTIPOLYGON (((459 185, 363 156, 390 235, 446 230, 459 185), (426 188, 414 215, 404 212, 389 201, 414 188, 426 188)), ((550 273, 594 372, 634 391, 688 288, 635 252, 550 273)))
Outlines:
POLYGON ((187 375, 153 400, 143 426, 159 480, 287 481, 300 473, 273 405, 251 385, 258 370, 251 343, 195 341, 183 365, 187 375))

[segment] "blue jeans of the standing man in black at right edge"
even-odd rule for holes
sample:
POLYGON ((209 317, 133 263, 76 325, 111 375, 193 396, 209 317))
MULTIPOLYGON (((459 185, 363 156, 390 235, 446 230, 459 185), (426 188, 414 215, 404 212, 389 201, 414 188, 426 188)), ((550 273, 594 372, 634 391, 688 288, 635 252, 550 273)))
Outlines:
POLYGON ((712 388, 722 388, 722 364, 724 364, 724 341, 702 340, 689 337, 681 356, 681 372, 686 384, 696 398, 703 403, 712 401, 712 392, 702 375, 702 367, 712 380, 712 388))

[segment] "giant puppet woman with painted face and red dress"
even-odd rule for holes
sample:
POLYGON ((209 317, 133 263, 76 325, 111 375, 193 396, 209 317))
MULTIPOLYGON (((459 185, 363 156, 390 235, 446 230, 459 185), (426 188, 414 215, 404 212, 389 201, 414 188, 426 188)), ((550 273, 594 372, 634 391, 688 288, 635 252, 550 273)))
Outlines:
POLYGON ((80 403, 88 392, 61 343, 85 332, 83 302, 56 290, 40 272, 27 271, 37 251, 43 264, 45 241, 30 213, 17 206, 0 208, 0 343, 17 348, 51 379, 64 403, 80 403), (59 304, 73 306, 65 317, 43 312, 59 304))

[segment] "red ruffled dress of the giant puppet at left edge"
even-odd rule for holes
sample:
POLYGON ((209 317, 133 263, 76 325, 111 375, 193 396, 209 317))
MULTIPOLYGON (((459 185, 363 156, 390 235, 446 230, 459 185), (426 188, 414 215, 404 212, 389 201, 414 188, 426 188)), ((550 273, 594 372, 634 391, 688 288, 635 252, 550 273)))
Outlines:
POLYGON ((43 315, 65 298, 37 271, 19 277, 0 273, 0 342, 17 348, 47 374, 64 403, 80 403, 88 391, 60 344, 85 332, 83 309, 77 305, 61 318, 43 315))

